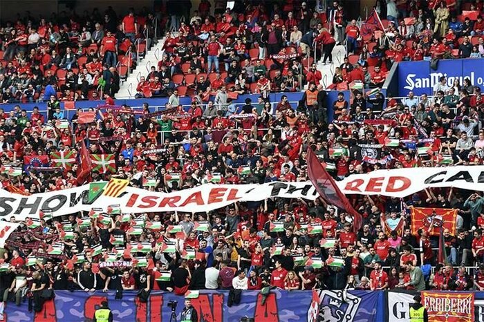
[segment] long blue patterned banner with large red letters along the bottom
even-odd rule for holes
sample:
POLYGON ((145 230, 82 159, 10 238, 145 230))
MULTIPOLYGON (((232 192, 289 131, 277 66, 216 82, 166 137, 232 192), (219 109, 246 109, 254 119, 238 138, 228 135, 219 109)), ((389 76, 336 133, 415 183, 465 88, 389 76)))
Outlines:
MULTIPOLYGON (((200 291, 192 305, 198 312, 198 321, 235 322, 248 316, 257 322, 297 322, 309 321, 313 292, 311 291, 271 291, 266 302, 261 303, 257 291, 243 291, 241 302, 227 306, 228 291, 200 291), (201 319, 203 317, 203 319, 201 319)), ((102 301, 109 302, 115 322, 168 322, 171 309, 169 301, 178 301, 177 321, 184 307, 184 297, 167 292, 152 292, 148 303, 140 303, 136 292, 125 291, 120 300, 114 298, 115 292, 56 291, 55 299, 45 303, 41 312, 28 312, 27 303, 16 306, 7 303, 3 320, 6 322, 84 322, 92 321, 94 312, 102 301)), ((345 320, 346 321, 346 320, 345 320)))

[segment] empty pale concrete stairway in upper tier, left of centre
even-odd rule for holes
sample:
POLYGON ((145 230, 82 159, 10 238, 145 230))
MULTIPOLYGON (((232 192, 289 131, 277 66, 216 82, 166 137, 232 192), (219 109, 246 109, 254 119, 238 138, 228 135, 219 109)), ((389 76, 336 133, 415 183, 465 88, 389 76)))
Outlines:
POLYGON ((136 95, 136 87, 140 82, 140 77, 147 76, 151 71, 151 66, 158 66, 158 61, 161 60, 163 55, 163 44, 165 44, 165 38, 159 39, 158 43, 151 47, 146 53, 145 57, 140 59, 138 65, 127 79, 122 82, 120 90, 115 95, 117 99, 132 99, 136 95))

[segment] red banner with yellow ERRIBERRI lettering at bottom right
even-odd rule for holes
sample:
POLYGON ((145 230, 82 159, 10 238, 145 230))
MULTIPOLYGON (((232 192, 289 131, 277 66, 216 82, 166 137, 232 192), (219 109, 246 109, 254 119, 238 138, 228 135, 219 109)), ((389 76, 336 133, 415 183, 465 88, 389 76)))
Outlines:
POLYGON ((429 322, 474 321, 473 292, 422 292, 429 322))

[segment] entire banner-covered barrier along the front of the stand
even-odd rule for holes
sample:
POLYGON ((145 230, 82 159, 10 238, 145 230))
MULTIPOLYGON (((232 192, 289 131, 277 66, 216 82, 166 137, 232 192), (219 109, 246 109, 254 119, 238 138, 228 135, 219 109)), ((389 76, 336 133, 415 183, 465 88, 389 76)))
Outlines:
MULTIPOLYGON (((236 322, 243 317, 257 322, 408 322, 409 304, 416 291, 283 291, 272 290, 262 304, 259 291, 243 291, 241 302, 227 306, 229 291, 200 291, 192 305, 199 321, 236 322), (318 303, 319 301, 319 303, 318 303), (320 312, 319 319, 316 312, 320 312)), ((429 312, 429 321, 484 321, 484 292, 421 293, 429 312)), ((107 300, 113 321, 170 321, 169 301, 178 301, 177 321, 183 310, 183 296, 167 292, 151 292, 148 303, 140 303, 134 291, 125 291, 122 299, 115 292, 56 291, 55 299, 45 303, 41 312, 28 312, 27 303, 17 307, 7 303, 5 322, 84 322, 91 321, 97 307, 107 300)))

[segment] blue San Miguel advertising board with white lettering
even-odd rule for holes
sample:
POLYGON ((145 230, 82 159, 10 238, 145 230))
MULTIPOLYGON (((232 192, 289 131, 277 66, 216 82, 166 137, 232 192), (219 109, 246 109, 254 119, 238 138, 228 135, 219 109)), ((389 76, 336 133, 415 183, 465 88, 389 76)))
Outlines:
POLYGON ((402 61, 398 63, 398 96, 407 96, 410 91, 415 95, 433 95, 434 85, 442 76, 447 77, 447 85, 452 86, 454 79, 460 85, 465 78, 472 85, 483 88, 484 59, 447 59, 438 61, 437 70, 430 68, 430 61, 402 61))

